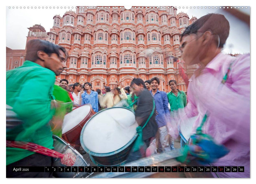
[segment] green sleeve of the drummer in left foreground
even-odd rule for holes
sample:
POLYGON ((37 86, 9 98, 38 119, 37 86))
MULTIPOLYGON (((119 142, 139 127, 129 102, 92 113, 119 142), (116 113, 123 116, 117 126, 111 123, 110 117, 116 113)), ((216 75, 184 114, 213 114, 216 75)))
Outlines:
POLYGON ((45 126, 55 113, 55 109, 51 109, 54 73, 48 69, 35 70, 27 78, 13 105, 13 111, 23 120, 24 130, 16 137, 20 141, 30 141, 29 137, 45 126))

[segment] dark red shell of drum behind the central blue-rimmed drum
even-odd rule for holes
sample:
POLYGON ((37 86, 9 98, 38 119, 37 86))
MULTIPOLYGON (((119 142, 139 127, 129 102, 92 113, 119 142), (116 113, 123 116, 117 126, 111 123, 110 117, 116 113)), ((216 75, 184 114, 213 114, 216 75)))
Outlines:
MULTIPOLYGON (((88 105, 88 104, 85 104, 88 105)), ((80 106, 81 107, 81 106, 80 106)), ((91 105, 90 105, 91 107, 91 105)), ((77 107, 79 108, 79 107, 77 107)), ((75 108, 76 109, 76 108, 75 108)), ((83 119, 83 121, 81 121, 78 125, 76 125, 74 128, 72 128, 71 130, 65 132, 64 134, 62 134, 62 139, 64 139, 65 141, 69 142, 72 146, 74 146, 76 149, 79 149, 81 144, 80 144, 80 133, 81 130, 83 129, 83 126, 85 125, 85 123, 95 114, 95 112, 93 111, 92 107, 90 112, 85 116, 85 118, 83 119)))

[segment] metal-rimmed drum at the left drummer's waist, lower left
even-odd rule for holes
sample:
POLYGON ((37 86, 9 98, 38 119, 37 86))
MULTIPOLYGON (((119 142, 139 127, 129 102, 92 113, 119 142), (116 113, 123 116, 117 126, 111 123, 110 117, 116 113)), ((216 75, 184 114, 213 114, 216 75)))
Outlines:
MULTIPOLYGON (((55 135, 52 136, 54 142, 54 150, 58 151, 62 154, 65 153, 72 153, 76 155, 76 162, 74 163, 73 166, 90 166, 88 162, 86 162, 83 158, 83 156, 76 151, 73 147, 70 146, 67 142, 62 140, 60 137, 57 137, 55 135)), ((61 163, 60 158, 54 158, 54 165, 53 166, 65 166, 61 163)), ((87 178, 91 176, 93 173, 89 172, 54 172, 54 176, 57 178, 87 178)))

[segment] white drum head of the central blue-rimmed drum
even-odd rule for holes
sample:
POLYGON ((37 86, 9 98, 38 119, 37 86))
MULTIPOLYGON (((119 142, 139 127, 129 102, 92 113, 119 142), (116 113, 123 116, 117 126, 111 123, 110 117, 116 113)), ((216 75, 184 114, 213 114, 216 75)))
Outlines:
POLYGON ((131 141, 137 126, 133 111, 127 108, 102 110, 83 127, 81 145, 95 153, 116 151, 131 141))

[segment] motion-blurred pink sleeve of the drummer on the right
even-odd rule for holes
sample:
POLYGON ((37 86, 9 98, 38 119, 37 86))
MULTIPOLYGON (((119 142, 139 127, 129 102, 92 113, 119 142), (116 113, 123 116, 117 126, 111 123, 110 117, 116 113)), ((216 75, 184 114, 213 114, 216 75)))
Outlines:
POLYGON ((231 86, 219 84, 219 87, 216 87, 217 85, 213 84, 217 84, 218 79, 208 78, 207 81, 211 81, 211 86, 204 84, 202 90, 195 91, 195 93, 201 93, 198 103, 207 109, 217 121, 224 122, 230 130, 234 131, 232 134, 234 140, 249 142, 250 56, 242 56, 235 61, 231 67, 230 79, 232 80, 231 86))

